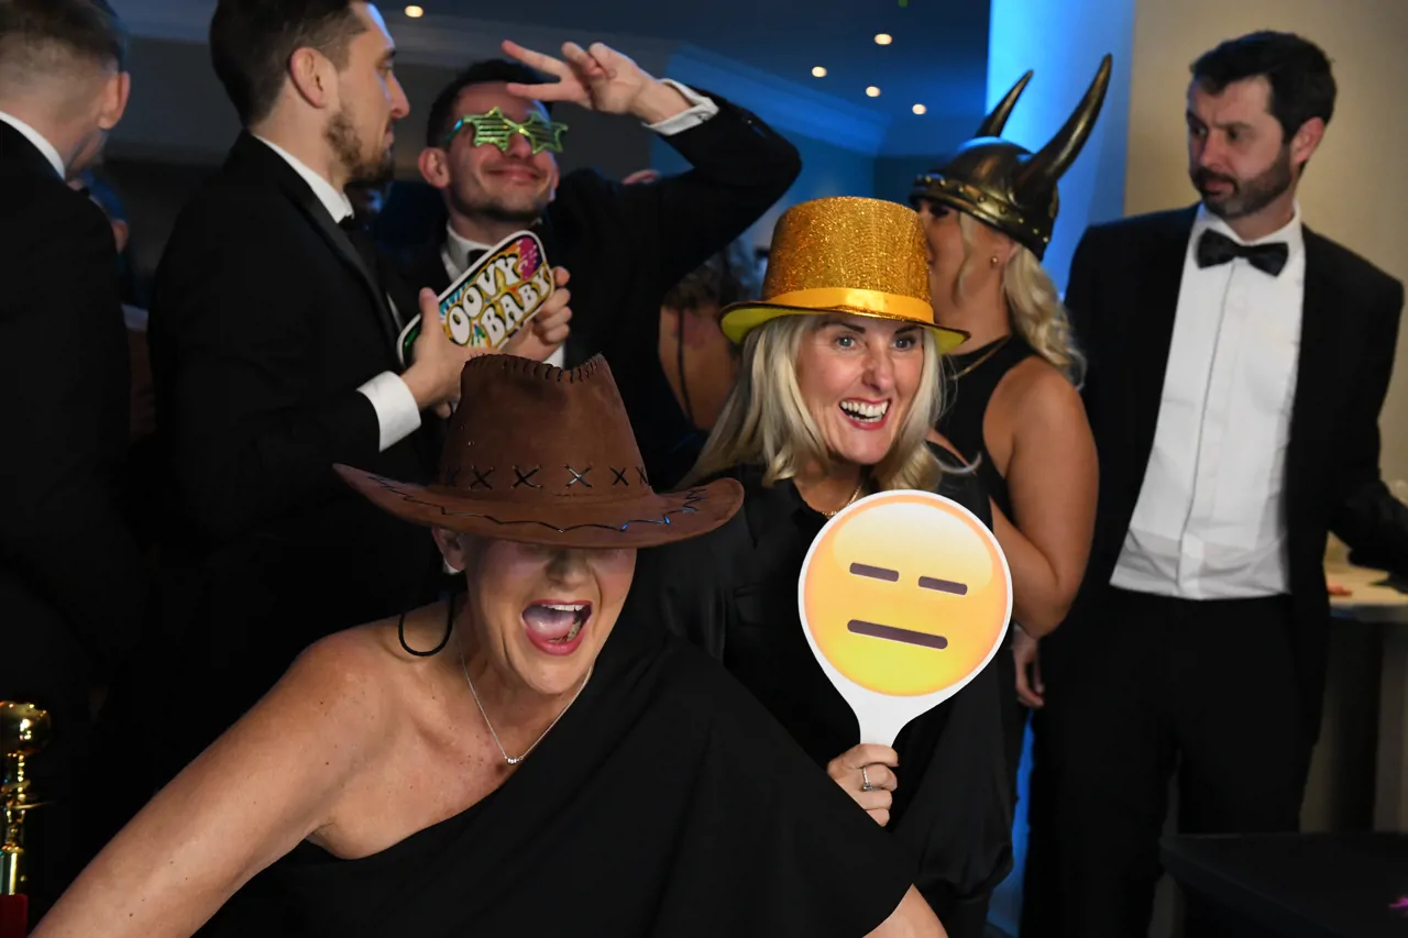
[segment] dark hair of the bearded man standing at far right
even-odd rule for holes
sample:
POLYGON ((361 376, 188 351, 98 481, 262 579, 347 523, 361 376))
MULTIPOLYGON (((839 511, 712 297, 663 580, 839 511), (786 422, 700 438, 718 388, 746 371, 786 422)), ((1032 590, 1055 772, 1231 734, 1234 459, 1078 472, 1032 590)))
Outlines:
POLYGON ((1271 86, 1267 107, 1286 142, 1311 118, 1329 124, 1335 114, 1335 76, 1325 52, 1293 32, 1250 32, 1204 52, 1193 63, 1193 79, 1221 94, 1232 82, 1264 77, 1271 86))

